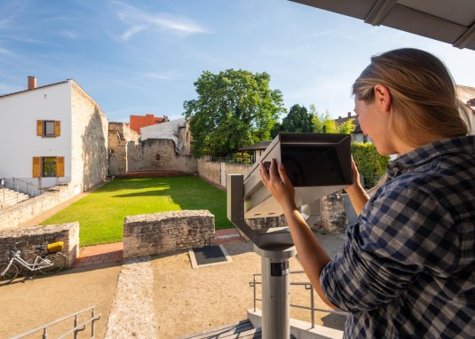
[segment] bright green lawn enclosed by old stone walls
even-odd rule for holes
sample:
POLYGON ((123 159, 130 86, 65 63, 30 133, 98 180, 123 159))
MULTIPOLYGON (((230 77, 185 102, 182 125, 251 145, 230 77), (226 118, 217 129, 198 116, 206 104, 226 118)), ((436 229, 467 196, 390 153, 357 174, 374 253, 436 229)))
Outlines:
POLYGON ((42 225, 79 221, 83 247, 122 241, 126 216, 181 209, 208 209, 216 229, 234 227, 226 217, 226 193, 196 177, 115 179, 42 225))

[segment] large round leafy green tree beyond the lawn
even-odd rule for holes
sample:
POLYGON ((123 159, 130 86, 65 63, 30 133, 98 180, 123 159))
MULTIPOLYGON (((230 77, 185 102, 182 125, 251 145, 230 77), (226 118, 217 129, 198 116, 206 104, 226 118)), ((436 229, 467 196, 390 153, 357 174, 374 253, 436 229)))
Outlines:
POLYGON ((200 75, 194 83, 198 98, 183 104, 194 156, 226 156, 270 138, 284 111, 281 91, 269 88, 270 79, 265 72, 241 69, 200 75))

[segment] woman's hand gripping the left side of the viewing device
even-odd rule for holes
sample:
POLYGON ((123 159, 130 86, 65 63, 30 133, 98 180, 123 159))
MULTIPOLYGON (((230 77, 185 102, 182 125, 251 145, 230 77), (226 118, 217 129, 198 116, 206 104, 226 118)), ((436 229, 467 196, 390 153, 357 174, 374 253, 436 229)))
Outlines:
POLYGON ((297 209, 295 189, 292 183, 290 183, 283 165, 280 163, 277 166, 275 159, 273 159, 269 170, 265 168, 262 162, 259 166, 263 184, 273 195, 273 198, 279 202, 282 209, 284 211, 297 209))

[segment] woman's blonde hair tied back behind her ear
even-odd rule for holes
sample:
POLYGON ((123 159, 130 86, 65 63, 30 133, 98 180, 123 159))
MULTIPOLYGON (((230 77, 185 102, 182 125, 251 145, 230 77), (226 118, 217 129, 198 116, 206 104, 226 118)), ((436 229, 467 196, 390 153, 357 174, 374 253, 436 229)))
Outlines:
POLYGON ((403 48, 372 57, 353 83, 352 93, 356 99, 372 102, 376 84, 390 91, 391 128, 409 145, 426 144, 428 135, 453 138, 468 134, 452 75, 430 53, 403 48))

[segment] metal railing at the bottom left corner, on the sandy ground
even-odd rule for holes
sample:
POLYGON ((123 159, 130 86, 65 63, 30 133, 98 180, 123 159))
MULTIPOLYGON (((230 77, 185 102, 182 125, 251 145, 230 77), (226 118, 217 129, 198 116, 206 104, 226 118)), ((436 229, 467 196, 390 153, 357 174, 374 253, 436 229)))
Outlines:
POLYGON ((28 335, 33 335, 34 333, 36 332, 39 332, 39 331, 43 331, 43 339, 47 339, 48 338, 48 327, 51 327, 53 325, 56 325, 58 324, 59 322, 61 321, 64 321, 66 319, 70 319, 70 318, 75 318, 74 320, 74 327, 71 328, 70 330, 68 330, 67 332, 65 333, 62 333, 61 335, 59 335, 57 337, 57 339, 62 339, 62 338, 65 338, 67 337, 67 335, 71 335, 73 334, 74 335, 74 338, 77 339, 78 338, 78 335, 79 335, 79 332, 83 331, 85 328, 86 328, 86 325, 91 323, 91 338, 94 338, 94 322, 99 320, 100 319, 100 313, 98 315, 95 314, 95 308, 96 306, 91 306, 91 307, 88 307, 87 309, 83 309, 81 311, 76 311, 75 313, 72 313, 72 314, 69 314, 67 315, 66 317, 63 317, 63 318, 59 318, 59 319, 56 319, 56 320, 53 320, 51 322, 49 322, 48 324, 46 325, 43 325, 43 326, 40 326, 40 327, 36 327, 36 328, 33 328, 31 330, 29 330, 28 332, 25 332, 25 333, 22 333, 21 335, 16 335, 16 336, 13 336, 12 338, 10 339, 21 339, 21 338, 25 338, 26 336, 28 335), (91 311, 91 318, 89 319, 86 319, 84 320, 81 324, 79 324, 78 322, 78 316, 81 314, 81 313, 85 313, 87 311, 91 311))

